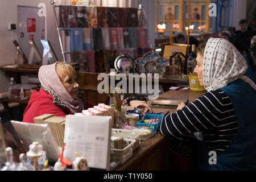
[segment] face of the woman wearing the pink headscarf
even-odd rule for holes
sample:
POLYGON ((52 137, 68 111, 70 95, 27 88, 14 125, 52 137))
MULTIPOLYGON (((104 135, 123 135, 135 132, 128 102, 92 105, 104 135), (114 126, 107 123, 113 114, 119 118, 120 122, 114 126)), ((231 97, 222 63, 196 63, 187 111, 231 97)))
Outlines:
POLYGON ((60 80, 63 82, 63 85, 65 86, 71 97, 76 100, 79 88, 79 84, 77 84, 76 82, 76 76, 65 75, 64 78, 60 78, 60 80))

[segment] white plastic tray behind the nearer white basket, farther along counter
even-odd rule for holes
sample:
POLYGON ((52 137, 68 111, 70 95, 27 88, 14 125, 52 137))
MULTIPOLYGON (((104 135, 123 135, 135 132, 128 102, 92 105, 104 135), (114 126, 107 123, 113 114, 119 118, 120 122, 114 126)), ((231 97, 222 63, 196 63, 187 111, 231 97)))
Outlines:
POLYGON ((123 137, 123 139, 136 140, 133 146, 133 150, 139 147, 139 144, 141 143, 142 133, 142 131, 112 129, 112 136, 114 137, 123 137))

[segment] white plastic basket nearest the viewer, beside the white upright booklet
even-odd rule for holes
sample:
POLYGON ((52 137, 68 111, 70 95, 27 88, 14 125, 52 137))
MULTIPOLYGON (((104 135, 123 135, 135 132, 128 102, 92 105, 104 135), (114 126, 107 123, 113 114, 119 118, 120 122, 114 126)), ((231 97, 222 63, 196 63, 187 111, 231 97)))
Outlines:
POLYGON ((110 161, 125 163, 133 155, 133 146, 136 140, 123 139, 123 149, 110 149, 110 161))

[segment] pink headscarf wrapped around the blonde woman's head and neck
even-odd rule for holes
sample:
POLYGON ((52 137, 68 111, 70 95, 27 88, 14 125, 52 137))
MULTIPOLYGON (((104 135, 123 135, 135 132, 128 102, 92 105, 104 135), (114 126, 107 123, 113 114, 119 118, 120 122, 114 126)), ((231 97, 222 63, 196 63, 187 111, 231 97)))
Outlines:
POLYGON ((72 113, 81 113, 84 109, 84 105, 80 98, 75 100, 68 93, 67 89, 60 81, 59 76, 56 73, 55 66, 58 62, 49 65, 42 65, 38 72, 38 78, 41 85, 54 93, 59 100, 72 111, 72 113))

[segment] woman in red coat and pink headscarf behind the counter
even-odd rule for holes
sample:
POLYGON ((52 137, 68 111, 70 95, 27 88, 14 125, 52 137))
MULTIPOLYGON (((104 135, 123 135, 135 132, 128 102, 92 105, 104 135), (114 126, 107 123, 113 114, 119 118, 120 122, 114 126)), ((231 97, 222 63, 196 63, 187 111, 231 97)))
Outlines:
MULTIPOLYGON (((23 122, 34 123, 34 118, 43 114, 65 117, 94 106, 86 100, 84 93, 79 92, 76 71, 71 65, 63 62, 43 65, 39 69, 38 77, 42 88, 39 92, 32 93, 24 111, 23 122)), ((145 112, 152 111, 144 101, 129 98, 123 103, 130 105, 130 109, 143 107, 145 112)))

